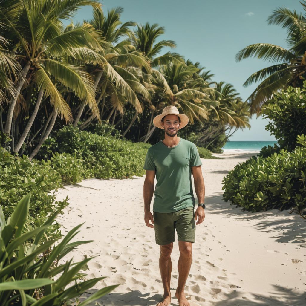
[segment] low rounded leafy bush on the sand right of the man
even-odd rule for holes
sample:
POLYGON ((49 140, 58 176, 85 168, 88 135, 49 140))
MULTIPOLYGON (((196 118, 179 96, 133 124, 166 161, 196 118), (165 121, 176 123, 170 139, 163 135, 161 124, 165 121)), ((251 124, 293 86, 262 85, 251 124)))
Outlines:
POLYGON ((249 211, 292 209, 306 218, 306 139, 297 137, 292 152, 252 156, 223 178, 223 198, 249 211))

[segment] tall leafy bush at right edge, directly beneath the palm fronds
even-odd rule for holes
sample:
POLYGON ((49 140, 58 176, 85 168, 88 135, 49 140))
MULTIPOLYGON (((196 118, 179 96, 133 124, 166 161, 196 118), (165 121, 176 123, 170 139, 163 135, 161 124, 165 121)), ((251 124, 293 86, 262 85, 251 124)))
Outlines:
POLYGON ((303 88, 287 89, 273 94, 262 107, 263 118, 270 119, 266 130, 271 132, 282 149, 292 151, 297 135, 306 134, 306 81, 303 88))

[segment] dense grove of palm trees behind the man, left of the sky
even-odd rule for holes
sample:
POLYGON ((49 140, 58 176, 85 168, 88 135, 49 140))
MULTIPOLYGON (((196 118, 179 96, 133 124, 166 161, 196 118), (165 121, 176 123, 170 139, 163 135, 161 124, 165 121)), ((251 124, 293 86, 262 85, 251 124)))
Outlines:
POLYGON ((162 53, 176 44, 160 39, 158 24, 122 23, 122 8, 105 14, 95 0, 2 0, 0 7, 0 129, 16 155, 32 160, 68 123, 94 131, 101 120, 121 138, 153 144, 161 131, 152 119, 167 105, 200 126, 200 136, 210 131, 199 145, 211 151, 226 130, 248 127, 238 94, 219 91, 198 62, 162 53), (92 18, 64 26, 84 5, 92 18))

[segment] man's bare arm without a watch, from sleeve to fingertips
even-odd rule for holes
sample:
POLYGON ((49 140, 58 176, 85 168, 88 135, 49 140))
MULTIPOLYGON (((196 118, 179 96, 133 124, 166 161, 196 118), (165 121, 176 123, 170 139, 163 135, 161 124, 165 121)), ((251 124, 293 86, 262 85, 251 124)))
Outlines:
POLYGON ((146 177, 144 180, 144 222, 146 222, 146 226, 154 227, 153 215, 150 211, 150 204, 154 193, 154 179, 155 179, 155 171, 154 170, 146 170, 146 177), (150 224, 150 221, 152 224, 150 224))

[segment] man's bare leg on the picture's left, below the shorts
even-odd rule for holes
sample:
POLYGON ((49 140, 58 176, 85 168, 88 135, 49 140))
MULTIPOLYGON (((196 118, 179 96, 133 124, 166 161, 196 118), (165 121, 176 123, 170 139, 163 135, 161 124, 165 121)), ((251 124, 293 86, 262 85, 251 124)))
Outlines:
POLYGON ((164 287, 164 300, 157 304, 157 306, 168 306, 171 301, 170 293, 170 279, 172 271, 171 262, 171 251, 173 248, 173 242, 165 245, 160 245, 160 256, 159 256, 159 271, 162 278, 162 285, 164 287))

